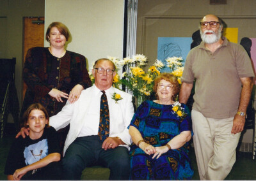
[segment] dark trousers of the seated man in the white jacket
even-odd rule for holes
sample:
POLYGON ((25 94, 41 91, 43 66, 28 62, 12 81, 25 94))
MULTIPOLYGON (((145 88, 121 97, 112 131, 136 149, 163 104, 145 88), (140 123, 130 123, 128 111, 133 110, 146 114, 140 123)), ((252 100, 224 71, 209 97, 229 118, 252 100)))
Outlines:
POLYGON ((62 160, 63 180, 80 180, 84 168, 95 164, 110 169, 109 180, 129 179, 130 159, 127 148, 104 150, 99 136, 84 136, 76 138, 65 153, 62 160))

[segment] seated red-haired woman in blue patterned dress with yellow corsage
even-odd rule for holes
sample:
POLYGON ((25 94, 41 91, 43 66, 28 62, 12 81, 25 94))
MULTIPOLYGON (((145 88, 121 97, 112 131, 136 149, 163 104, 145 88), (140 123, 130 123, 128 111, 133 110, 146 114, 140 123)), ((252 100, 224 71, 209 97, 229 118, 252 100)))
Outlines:
POLYGON ((188 157, 191 115, 186 105, 175 102, 180 85, 170 73, 154 82, 157 100, 144 101, 129 127, 131 180, 191 179, 188 157))

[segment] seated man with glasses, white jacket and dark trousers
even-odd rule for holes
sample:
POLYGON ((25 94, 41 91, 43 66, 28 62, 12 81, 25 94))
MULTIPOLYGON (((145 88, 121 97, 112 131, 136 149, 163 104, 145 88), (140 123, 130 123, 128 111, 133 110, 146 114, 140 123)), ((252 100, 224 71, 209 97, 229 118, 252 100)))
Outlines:
POLYGON ((116 72, 109 59, 96 61, 92 73, 95 84, 83 90, 75 103, 67 101, 49 121, 56 130, 70 124, 63 150, 63 180, 80 180, 84 168, 93 164, 109 168, 109 180, 128 180, 132 140, 127 127, 134 114, 132 96, 112 87, 116 72), (98 136, 101 91, 106 92, 109 107, 109 136, 104 141, 98 136), (113 99, 115 93, 122 99, 113 99))

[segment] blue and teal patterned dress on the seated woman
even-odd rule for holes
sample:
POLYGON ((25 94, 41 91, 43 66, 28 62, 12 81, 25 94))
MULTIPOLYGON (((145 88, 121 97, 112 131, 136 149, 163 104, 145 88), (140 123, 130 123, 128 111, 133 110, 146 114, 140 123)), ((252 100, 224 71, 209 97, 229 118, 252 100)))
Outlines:
MULTIPOLYGON (((180 119, 172 110, 173 105, 159 105, 144 101, 138 107, 131 121, 144 141, 154 147, 166 145, 182 131, 191 131, 191 114, 186 105, 186 117, 180 119)), ((177 150, 169 150, 158 159, 152 159, 136 145, 131 146, 131 180, 184 180, 191 179, 193 169, 188 157, 188 143, 177 150)))

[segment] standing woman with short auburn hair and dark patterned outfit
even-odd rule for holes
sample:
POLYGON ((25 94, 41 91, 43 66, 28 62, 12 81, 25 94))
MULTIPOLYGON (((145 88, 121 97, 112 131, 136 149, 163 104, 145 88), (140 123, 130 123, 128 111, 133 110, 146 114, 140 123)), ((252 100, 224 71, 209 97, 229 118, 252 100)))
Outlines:
POLYGON ((65 50, 70 38, 67 27, 61 22, 52 22, 45 38, 50 47, 30 48, 26 55, 23 80, 28 89, 20 117, 33 103, 41 103, 50 117, 56 115, 67 100, 74 103, 81 91, 92 85, 85 57, 65 50))

